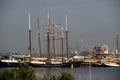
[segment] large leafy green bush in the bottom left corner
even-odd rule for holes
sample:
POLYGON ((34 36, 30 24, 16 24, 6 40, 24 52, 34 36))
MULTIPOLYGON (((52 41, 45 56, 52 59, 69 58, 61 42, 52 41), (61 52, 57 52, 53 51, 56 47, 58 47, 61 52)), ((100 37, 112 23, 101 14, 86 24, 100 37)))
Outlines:
POLYGON ((36 80, 34 70, 28 66, 4 69, 0 72, 0 80, 36 80))

